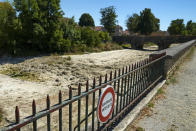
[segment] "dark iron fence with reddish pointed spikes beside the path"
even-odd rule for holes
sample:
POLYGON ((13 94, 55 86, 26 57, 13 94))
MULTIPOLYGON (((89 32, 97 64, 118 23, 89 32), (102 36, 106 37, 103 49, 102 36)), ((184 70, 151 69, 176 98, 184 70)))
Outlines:
POLYGON ((115 70, 104 78, 94 78, 92 84, 78 85, 77 91, 69 87, 69 97, 62 99, 58 94, 58 103, 51 106, 50 97, 46 99, 46 109, 36 112, 32 102, 32 115, 20 119, 19 108, 15 109, 15 123, 2 130, 112 130, 146 94, 164 77, 166 54, 151 57, 135 64, 115 70), (97 119, 98 98, 104 87, 112 85, 115 90, 115 105, 107 123, 97 119), (84 88, 85 89, 84 89, 84 88), (41 120, 42 118, 46 118, 41 120), (44 123, 45 124, 40 124, 44 123), (55 125, 55 126, 54 126, 55 125))

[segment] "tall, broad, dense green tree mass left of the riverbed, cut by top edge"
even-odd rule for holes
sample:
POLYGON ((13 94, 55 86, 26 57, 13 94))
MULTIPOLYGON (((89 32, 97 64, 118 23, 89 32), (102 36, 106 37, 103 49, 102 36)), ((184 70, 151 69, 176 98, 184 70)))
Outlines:
MULTIPOLYGON (((60 0, 14 0, 21 21, 21 41, 29 49, 61 51, 64 47, 60 0)), ((66 42, 65 42, 66 43, 66 42)))

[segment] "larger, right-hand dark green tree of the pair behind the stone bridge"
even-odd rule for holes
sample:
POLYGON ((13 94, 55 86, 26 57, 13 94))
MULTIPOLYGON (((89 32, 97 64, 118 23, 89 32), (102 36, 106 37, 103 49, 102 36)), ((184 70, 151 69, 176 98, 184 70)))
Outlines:
POLYGON ((154 16, 151 9, 145 8, 142 12, 140 12, 137 30, 141 34, 149 35, 152 32, 159 30, 159 23, 160 20, 154 16))

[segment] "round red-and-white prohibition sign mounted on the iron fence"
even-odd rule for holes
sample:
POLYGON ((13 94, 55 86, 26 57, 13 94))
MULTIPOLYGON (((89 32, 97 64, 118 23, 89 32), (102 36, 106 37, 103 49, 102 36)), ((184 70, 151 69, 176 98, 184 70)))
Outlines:
POLYGON ((110 118, 115 103, 115 92, 111 85, 106 86, 103 89, 99 97, 99 102, 97 106, 97 117, 99 122, 106 123, 110 118))

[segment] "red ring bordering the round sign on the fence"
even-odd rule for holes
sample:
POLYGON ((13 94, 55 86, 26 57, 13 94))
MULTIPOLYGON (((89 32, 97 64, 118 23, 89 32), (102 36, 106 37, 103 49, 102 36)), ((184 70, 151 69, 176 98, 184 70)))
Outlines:
POLYGON ((98 104, 98 119, 100 122, 105 123, 111 116, 112 111, 114 109, 114 102, 115 102, 115 92, 114 89, 112 88, 112 86, 108 86, 106 87, 106 89, 104 90, 103 94, 101 95, 100 99, 99 99, 99 104, 98 104), (103 100, 105 98, 105 96, 111 93, 112 94, 112 98, 113 98, 113 103, 112 103, 112 108, 110 109, 109 113, 107 116, 104 116, 102 113, 102 104, 103 104, 103 100))

